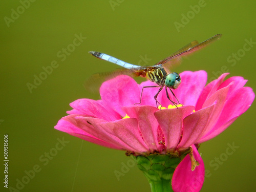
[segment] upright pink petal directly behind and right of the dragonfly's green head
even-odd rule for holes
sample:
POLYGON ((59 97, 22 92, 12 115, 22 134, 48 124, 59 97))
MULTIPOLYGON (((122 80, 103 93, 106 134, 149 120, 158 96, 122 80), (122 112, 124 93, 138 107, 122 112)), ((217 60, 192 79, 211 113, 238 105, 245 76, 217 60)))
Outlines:
MULTIPOLYGON (((205 71, 184 71, 180 74, 181 84, 176 90, 172 90, 180 103, 183 105, 195 106, 197 100, 204 89, 207 73, 205 71)), ((177 102, 172 93, 169 93, 170 99, 177 102)), ((162 102, 170 103, 165 92, 162 92, 162 102)))

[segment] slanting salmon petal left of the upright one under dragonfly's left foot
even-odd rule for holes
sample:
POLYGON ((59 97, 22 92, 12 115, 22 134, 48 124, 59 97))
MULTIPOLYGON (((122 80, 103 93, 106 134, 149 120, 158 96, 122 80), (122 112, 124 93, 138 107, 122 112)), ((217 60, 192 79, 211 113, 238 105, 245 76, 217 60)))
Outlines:
POLYGON ((123 143, 134 148, 134 152, 148 152, 149 149, 141 138, 138 121, 134 118, 121 119, 99 124, 106 132, 116 136, 123 143))

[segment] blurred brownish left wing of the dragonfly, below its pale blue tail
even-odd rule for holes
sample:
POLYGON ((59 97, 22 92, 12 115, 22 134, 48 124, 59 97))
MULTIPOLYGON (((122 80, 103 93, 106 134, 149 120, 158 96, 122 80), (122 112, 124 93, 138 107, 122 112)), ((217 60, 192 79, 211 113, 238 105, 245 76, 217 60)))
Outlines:
POLYGON ((90 92, 97 93, 99 92, 99 87, 104 81, 113 79, 118 75, 129 75, 131 77, 137 76, 132 70, 120 68, 111 72, 93 74, 84 82, 84 87, 90 92))

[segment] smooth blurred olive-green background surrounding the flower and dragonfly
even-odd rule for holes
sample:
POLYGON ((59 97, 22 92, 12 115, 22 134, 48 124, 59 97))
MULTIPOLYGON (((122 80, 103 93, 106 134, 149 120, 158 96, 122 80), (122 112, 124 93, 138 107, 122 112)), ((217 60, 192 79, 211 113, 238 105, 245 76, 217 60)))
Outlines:
MULTIPOLYGON (((205 70, 212 80, 225 70, 229 77, 248 79, 246 86, 255 90, 256 44, 244 50, 246 39, 256 42, 253 1, 21 0, 1 1, 0 6, 0 143, 3 154, 4 134, 8 134, 8 184, 16 188, 24 179, 24 186, 18 184, 20 191, 150 191, 137 167, 130 164, 122 169, 131 163, 124 152, 53 128, 71 109, 70 102, 99 99, 83 88, 86 78, 117 68, 88 51, 154 65, 192 40, 201 42, 222 33, 218 42, 184 59, 176 71, 205 70), (73 42, 76 35, 82 36, 80 44, 73 42), (232 58, 234 54, 240 56, 232 58), (27 83, 34 84, 35 76, 51 63, 55 67, 51 74, 41 76, 45 79, 29 90, 27 83), (61 149, 56 146, 58 138, 67 142, 61 149), (25 172, 33 168, 38 172, 28 180, 25 172), (125 173, 118 180, 115 171, 125 173)), ((201 145, 208 170, 202 191, 255 189, 254 116, 253 103, 224 133, 201 145), (239 147, 227 156, 232 143, 239 147), (222 159, 218 166, 216 158, 222 159)), ((3 181, 3 165, 0 170, 3 181)), ((12 191, 3 185, 1 191, 12 191)))

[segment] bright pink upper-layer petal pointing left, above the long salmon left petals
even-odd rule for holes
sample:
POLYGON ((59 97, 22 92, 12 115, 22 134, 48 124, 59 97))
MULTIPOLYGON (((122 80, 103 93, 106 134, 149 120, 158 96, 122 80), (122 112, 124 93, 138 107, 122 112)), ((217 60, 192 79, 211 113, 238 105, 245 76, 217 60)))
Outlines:
POLYGON ((69 111, 68 114, 96 117, 107 121, 114 121, 121 118, 118 113, 111 108, 107 108, 101 100, 77 99, 70 103, 70 106, 73 110, 69 111))

